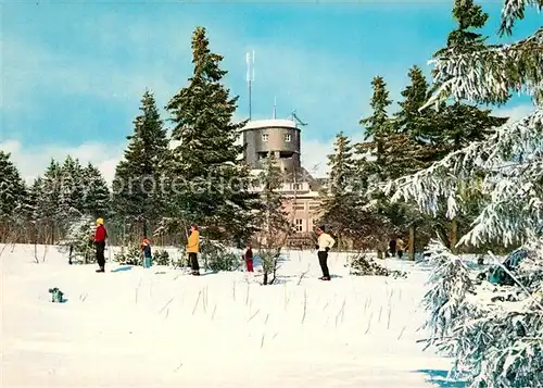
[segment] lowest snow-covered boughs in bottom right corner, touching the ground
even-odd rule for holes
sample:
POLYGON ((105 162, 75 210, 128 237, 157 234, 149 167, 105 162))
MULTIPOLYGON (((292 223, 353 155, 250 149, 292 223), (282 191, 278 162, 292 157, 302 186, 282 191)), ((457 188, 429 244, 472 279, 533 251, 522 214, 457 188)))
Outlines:
POLYGON ((543 273, 541 252, 530 251, 510 272, 518 284, 502 286, 476 285, 462 260, 439 242, 430 251, 435 268, 424 300, 428 345, 454 355, 452 376, 468 377, 472 387, 543 386, 543 276, 533 276, 543 273))

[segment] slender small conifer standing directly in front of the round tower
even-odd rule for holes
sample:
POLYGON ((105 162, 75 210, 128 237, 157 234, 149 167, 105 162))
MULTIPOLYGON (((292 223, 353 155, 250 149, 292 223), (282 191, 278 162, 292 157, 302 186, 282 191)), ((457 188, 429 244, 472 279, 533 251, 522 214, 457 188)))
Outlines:
POLYGON ((277 260, 292 233, 292 225, 283 209, 283 198, 279 192, 283 177, 273 152, 264 161, 258 179, 263 188, 262 208, 257 213, 258 252, 264 273, 263 284, 267 285, 276 279, 277 260), (272 280, 268 280, 269 275, 273 275, 272 280))

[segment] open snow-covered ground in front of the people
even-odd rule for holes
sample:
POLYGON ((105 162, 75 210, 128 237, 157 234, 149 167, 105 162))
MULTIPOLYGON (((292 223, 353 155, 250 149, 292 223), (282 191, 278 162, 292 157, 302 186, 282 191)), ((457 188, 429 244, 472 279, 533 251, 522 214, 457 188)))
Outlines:
POLYGON ((381 263, 407 279, 355 277, 332 253, 323 283, 314 253, 290 252, 264 287, 243 272, 97 274, 43 252, 39 264, 33 246, 0 256, 3 388, 457 386, 443 381, 450 361, 416 342, 428 270, 406 261, 381 263))

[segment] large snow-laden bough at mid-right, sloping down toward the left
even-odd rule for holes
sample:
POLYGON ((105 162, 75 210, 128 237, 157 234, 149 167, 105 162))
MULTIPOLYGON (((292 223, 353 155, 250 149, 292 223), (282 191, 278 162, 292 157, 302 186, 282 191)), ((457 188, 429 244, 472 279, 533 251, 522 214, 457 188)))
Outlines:
POLYGON ((489 198, 472 229, 459 243, 498 238, 508 243, 523 239, 543 225, 543 107, 513 124, 505 124, 483 141, 453 152, 429 168, 383 186, 392 201, 413 199, 437 214, 446 201, 454 217, 462 191, 476 183, 489 198), (484 177, 481 180, 481 173, 484 177))

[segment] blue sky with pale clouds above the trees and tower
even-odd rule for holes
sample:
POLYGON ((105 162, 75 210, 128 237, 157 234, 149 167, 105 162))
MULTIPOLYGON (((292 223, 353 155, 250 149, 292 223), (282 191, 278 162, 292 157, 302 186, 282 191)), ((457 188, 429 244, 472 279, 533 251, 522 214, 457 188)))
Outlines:
MULTIPOLYGON (((483 2, 495 39, 501 2, 483 2)), ((295 109, 306 165, 326 163, 333 136, 358 138, 370 82, 381 75, 395 100, 413 64, 428 59, 454 27, 452 1, 389 2, 4 2, 0 146, 25 176, 71 152, 111 177, 150 88, 160 107, 191 74, 190 38, 205 26, 225 55, 226 84, 248 115, 245 52, 255 50, 253 118, 295 109)), ((535 11, 513 39, 541 24, 535 11)), ((510 40, 510 39, 508 39, 510 40)), ((516 98, 504 112, 525 112, 516 98)), ((164 112, 164 118, 167 118, 164 112)), ((320 167, 321 168, 321 167, 320 167)), ((321 170, 319 170, 321 172, 321 170)))

